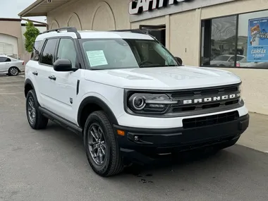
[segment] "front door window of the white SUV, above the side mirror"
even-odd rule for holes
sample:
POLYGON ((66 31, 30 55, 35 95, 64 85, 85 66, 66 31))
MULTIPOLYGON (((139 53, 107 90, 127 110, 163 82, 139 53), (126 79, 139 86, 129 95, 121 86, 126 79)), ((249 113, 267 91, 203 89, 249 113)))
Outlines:
POLYGON ((59 42, 59 49, 56 59, 69 59, 73 68, 76 64, 75 44, 72 39, 61 39, 59 42))

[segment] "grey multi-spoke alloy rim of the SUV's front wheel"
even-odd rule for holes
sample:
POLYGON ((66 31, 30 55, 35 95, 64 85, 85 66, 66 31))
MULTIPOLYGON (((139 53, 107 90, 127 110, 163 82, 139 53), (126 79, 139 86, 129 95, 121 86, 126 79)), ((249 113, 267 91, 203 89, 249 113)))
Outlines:
POLYGON ((106 142, 102 127, 92 123, 87 134, 90 155, 97 165, 102 165, 106 157, 106 142))

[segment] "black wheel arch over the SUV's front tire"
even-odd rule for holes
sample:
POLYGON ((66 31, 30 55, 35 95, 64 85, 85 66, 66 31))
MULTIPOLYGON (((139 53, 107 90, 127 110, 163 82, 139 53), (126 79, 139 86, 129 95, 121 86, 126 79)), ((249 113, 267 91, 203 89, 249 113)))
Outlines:
POLYGON ((102 99, 90 96, 83 99, 78 109, 78 125, 80 128, 84 127, 87 115, 98 110, 104 111, 107 114, 109 121, 118 125, 116 116, 114 115, 114 112, 111 111, 110 107, 102 99))

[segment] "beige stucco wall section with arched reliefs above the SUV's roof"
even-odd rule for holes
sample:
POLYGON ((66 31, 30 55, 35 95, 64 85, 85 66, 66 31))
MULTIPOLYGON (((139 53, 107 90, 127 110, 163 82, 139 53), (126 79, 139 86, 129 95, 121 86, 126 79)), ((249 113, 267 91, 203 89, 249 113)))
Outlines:
POLYGON ((70 1, 47 15, 49 28, 66 25, 78 30, 114 30, 130 28, 128 1, 70 1))

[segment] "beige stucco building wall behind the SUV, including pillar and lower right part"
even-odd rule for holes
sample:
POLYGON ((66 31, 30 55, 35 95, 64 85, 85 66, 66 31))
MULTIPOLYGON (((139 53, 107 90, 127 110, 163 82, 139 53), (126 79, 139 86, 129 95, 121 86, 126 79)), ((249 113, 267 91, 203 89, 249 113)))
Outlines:
MULTIPOLYGON (((267 0, 238 0, 191 11, 129 23, 128 1, 71 1, 48 13, 49 28, 74 25, 82 30, 138 28, 166 24, 166 47, 185 65, 200 65, 201 20, 268 9, 267 0)), ((168 9, 168 8, 166 8, 168 9)), ((268 70, 224 68, 243 80, 243 97, 248 109, 268 115, 268 70)))

